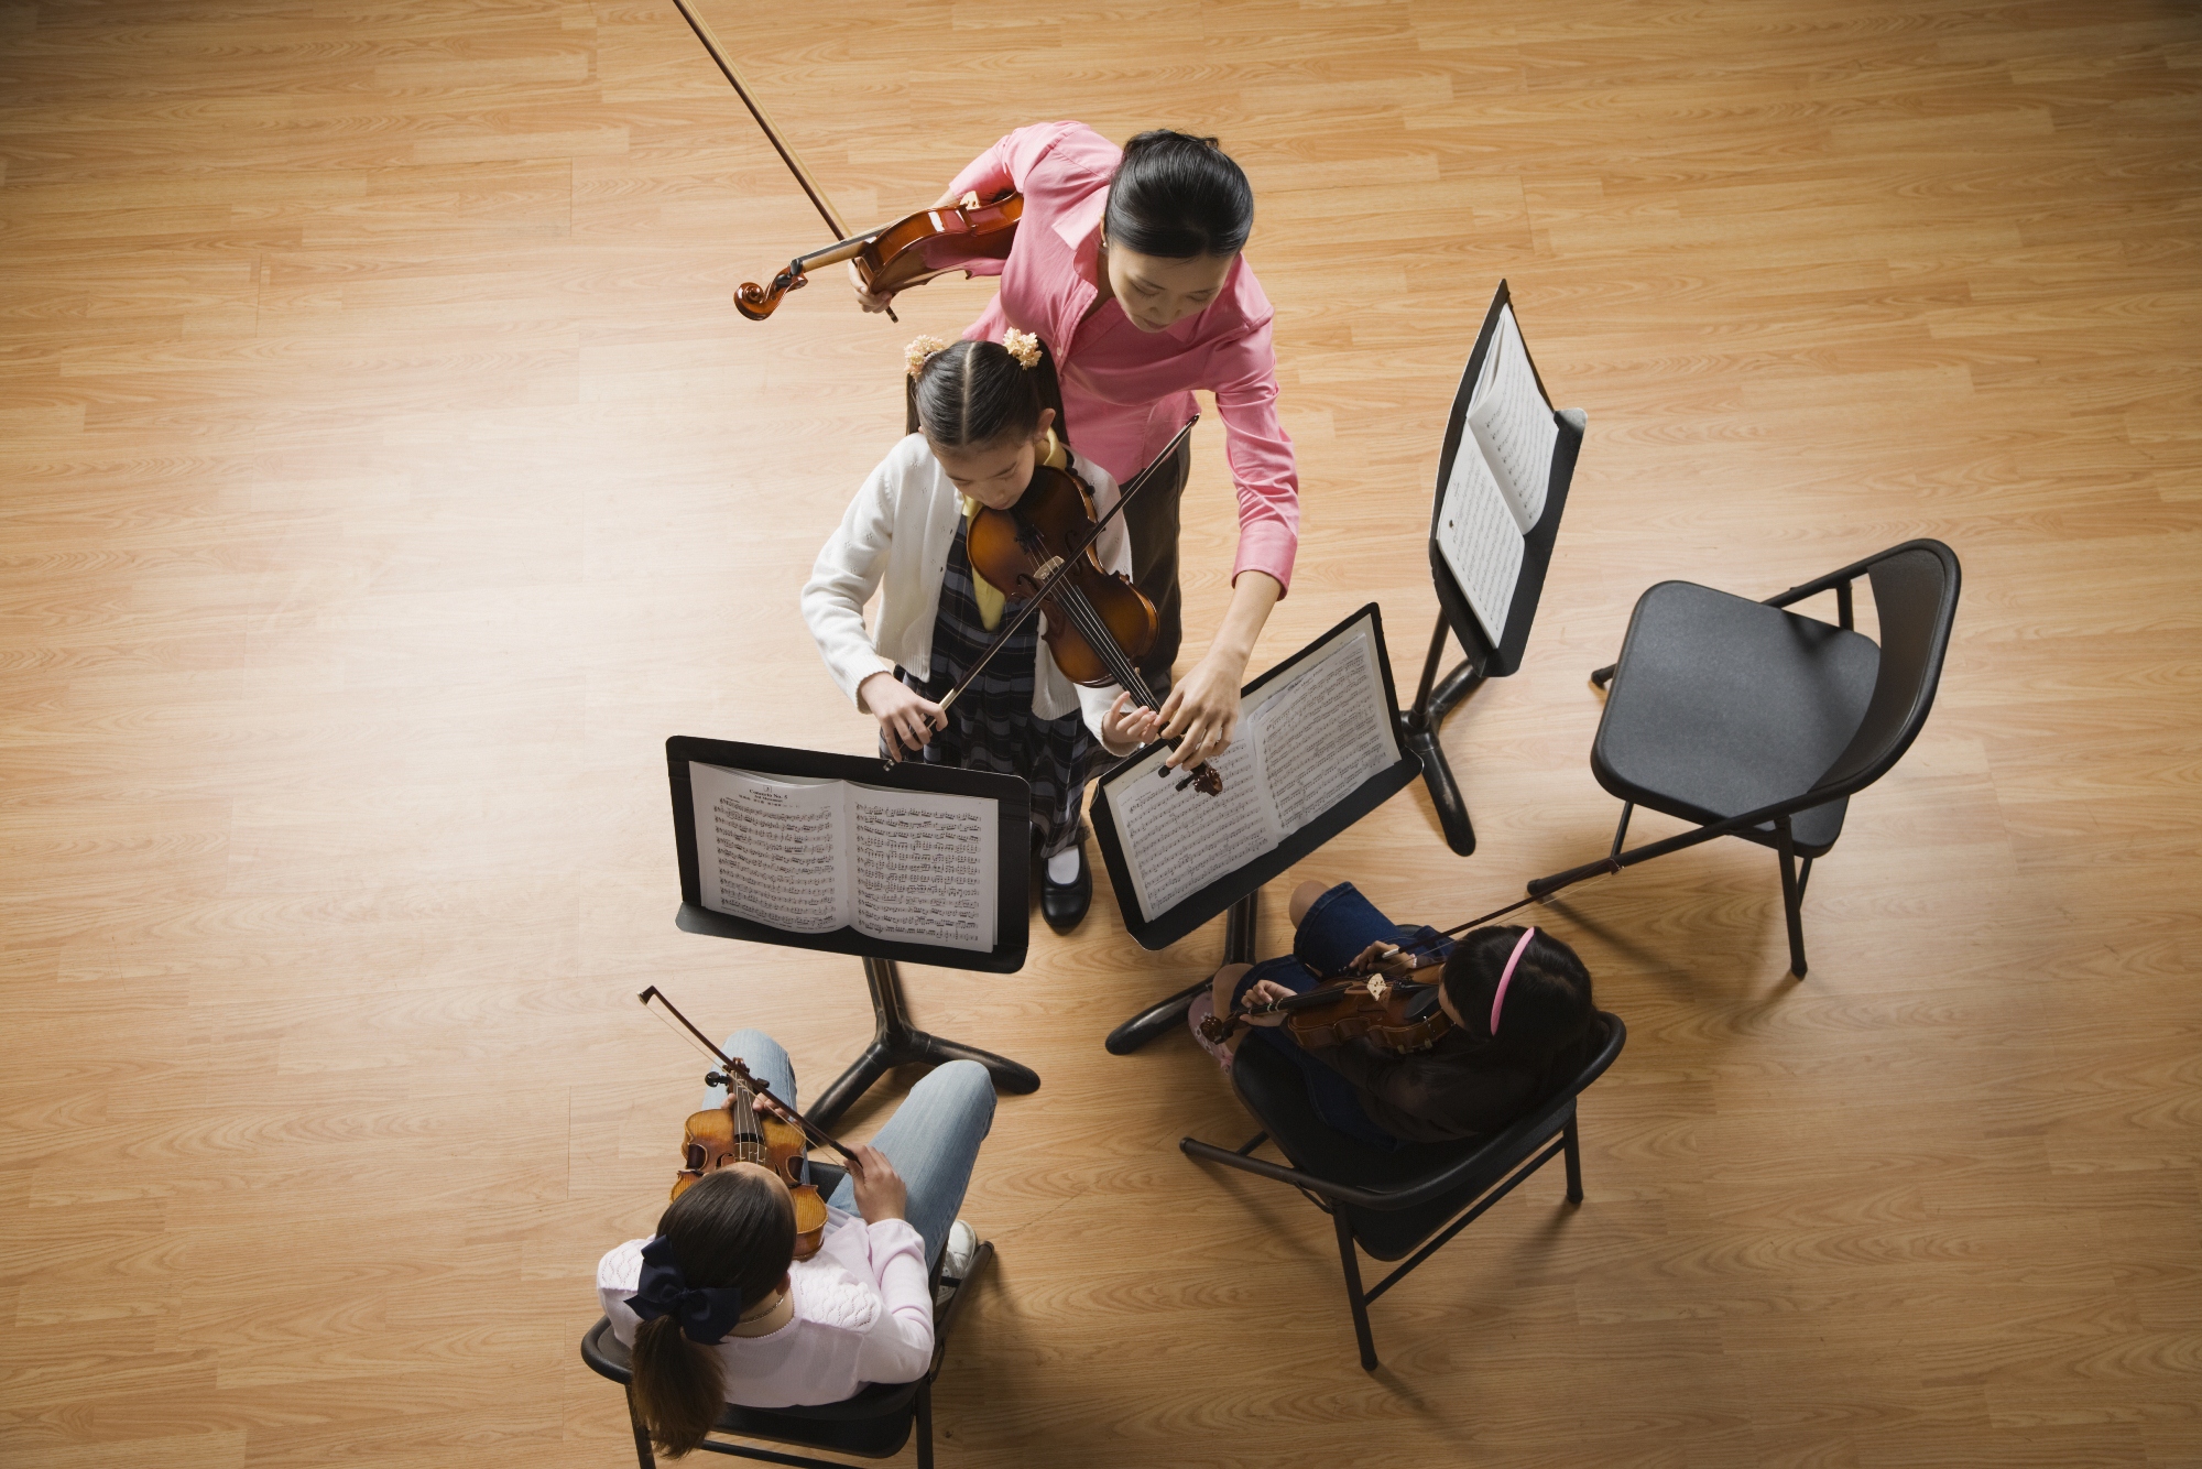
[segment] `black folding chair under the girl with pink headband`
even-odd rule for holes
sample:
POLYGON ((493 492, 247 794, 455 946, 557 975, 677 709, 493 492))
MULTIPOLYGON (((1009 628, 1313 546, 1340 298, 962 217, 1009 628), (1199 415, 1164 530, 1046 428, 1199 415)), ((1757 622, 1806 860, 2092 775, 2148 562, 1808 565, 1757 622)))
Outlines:
POLYGON ((1178 1147, 1193 1158, 1290 1183, 1330 1216, 1339 1236, 1339 1264, 1345 1269, 1345 1302, 1354 1310, 1354 1337, 1361 1341, 1361 1365, 1374 1370, 1370 1302, 1396 1286, 1407 1271, 1559 1154, 1568 1156, 1568 1203, 1583 1203, 1574 1099, 1605 1075, 1629 1037, 1618 1015, 1599 1011, 1599 1044, 1581 1073, 1515 1125, 1491 1139, 1414 1143, 1398 1152, 1376 1152, 1317 1117, 1299 1068, 1249 1037, 1231 1064, 1231 1084, 1262 1132, 1238 1150, 1191 1136, 1180 1139, 1178 1147), (1275 1139, 1293 1167, 1253 1156, 1268 1139, 1275 1139), (1363 1291, 1356 1247, 1383 1262, 1409 1251, 1414 1258, 1376 1282, 1374 1291, 1363 1291))

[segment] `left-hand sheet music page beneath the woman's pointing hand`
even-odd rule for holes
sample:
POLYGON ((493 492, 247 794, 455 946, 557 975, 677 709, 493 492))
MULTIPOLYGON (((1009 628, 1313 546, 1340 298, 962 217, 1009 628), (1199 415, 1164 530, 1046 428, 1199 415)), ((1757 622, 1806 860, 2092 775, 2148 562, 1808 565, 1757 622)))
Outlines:
POLYGON ((1123 859, 1132 868, 1132 896, 1147 918, 1167 914, 1224 872, 1275 848, 1282 837, 1253 740, 1238 738, 1209 762, 1224 777, 1222 795, 1200 795, 1191 786, 1178 791, 1182 775, 1156 777, 1165 760, 1169 751, 1156 749, 1108 788, 1123 859))

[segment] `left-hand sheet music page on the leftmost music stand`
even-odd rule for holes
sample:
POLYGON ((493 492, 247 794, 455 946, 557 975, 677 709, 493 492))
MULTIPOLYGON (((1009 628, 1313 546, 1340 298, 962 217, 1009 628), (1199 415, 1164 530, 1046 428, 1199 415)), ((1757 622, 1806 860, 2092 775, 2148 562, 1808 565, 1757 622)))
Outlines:
POLYGON ((702 905, 793 934, 848 925, 841 791, 689 762, 702 905))

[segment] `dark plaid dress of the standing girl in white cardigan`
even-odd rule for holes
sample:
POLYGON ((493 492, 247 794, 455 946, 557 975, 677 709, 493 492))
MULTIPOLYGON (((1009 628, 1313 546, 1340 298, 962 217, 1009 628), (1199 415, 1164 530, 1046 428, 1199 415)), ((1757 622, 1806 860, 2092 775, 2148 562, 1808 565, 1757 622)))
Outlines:
MULTIPOLYGON (((971 557, 964 551, 969 522, 956 526, 947 577, 940 581, 940 614, 934 619, 934 665, 927 678, 905 667, 894 676, 925 698, 940 703, 956 681, 993 643, 971 590, 971 557)), ((1022 603, 1011 601, 1009 619, 1022 603)), ((1033 714, 1033 670, 1039 652, 1039 619, 993 656, 986 672, 949 707, 949 727, 925 747, 927 764, 1022 775, 1033 786, 1033 841, 1042 857, 1070 850, 1079 839, 1079 804, 1086 782, 1101 764, 1101 740, 1081 714, 1048 720, 1033 714)), ((881 740, 885 755, 887 742, 881 740)))

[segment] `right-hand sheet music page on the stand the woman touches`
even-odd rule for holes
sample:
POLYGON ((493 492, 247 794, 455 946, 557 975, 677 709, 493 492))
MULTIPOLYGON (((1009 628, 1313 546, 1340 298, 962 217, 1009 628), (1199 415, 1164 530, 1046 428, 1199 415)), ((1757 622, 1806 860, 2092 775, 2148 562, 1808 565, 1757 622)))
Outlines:
POLYGON ((1288 685, 1255 705, 1246 722, 1262 784, 1277 810, 1277 841, 1398 762, 1376 648, 1365 625, 1350 628, 1308 659, 1288 685))

